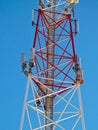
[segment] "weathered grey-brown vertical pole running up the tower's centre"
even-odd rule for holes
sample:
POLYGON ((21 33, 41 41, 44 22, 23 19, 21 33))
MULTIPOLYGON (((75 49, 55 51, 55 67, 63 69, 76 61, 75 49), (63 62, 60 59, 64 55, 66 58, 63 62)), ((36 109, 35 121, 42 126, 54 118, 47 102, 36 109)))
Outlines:
MULTIPOLYGON (((50 0, 50 2, 52 3, 52 5, 55 4, 55 0, 50 0)), ((53 12, 54 7, 50 8, 50 11, 53 12)), ((50 13, 50 17, 52 19, 55 18, 53 13, 50 13)), ((53 21, 49 20, 49 23, 51 23, 51 22, 53 22, 53 21)), ((54 41, 55 25, 54 24, 50 25, 47 30, 48 30, 49 39, 52 39, 52 41, 54 41)), ((50 40, 47 41, 47 43, 46 43, 46 46, 47 46, 46 53, 47 53, 48 62, 50 62, 51 65, 54 65, 54 56, 49 55, 49 54, 54 54, 54 45, 49 46, 49 45, 52 45, 52 44, 53 43, 50 40)), ((47 69, 52 67, 50 64, 48 64, 48 62, 47 62, 47 69)), ((53 69, 48 70, 47 78, 50 78, 50 79, 54 78, 54 70, 53 69)), ((48 84, 53 84, 53 80, 47 80, 46 82, 48 84)), ((46 90, 46 93, 48 95, 48 94, 52 93, 51 90, 53 90, 53 87, 52 86, 47 86, 47 87, 49 87, 49 89, 50 89, 50 90, 49 89, 46 90)), ((45 118, 45 125, 46 125, 45 130, 53 130, 53 124, 49 125, 53 121, 53 95, 46 97, 45 117, 46 117, 45 118), (48 117, 48 119, 47 119, 47 117, 48 117)))

